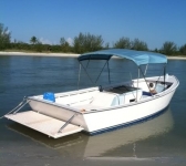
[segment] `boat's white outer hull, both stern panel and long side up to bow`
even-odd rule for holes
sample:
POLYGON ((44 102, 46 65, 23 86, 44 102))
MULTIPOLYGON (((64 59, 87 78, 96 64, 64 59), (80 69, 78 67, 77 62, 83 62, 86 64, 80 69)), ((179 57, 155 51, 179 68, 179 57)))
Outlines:
POLYGON ((179 84, 175 76, 172 76, 170 80, 172 87, 162 93, 125 105, 95 111, 82 112, 68 105, 60 105, 35 97, 29 97, 29 104, 33 111, 62 121, 69 121, 75 114, 71 123, 94 134, 147 118, 163 111, 168 106, 179 84))

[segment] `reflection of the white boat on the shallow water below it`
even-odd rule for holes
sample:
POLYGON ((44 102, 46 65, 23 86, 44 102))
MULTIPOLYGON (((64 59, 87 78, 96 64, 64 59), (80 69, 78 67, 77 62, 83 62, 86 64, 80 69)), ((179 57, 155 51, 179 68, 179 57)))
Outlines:
MULTIPOLYGON (((172 112, 167 108, 158 116, 147 120, 145 123, 134 124, 128 127, 94 136, 80 133, 53 139, 17 123, 13 123, 8 127, 50 148, 59 151, 61 155, 64 155, 64 153, 66 155, 68 153, 68 156, 70 157, 106 157, 107 154, 114 154, 124 145, 126 147, 127 145, 134 146, 131 148, 134 153, 135 144, 137 142, 167 134, 173 126, 174 121, 172 112)), ((135 155, 133 154, 131 157, 134 156, 135 155)))

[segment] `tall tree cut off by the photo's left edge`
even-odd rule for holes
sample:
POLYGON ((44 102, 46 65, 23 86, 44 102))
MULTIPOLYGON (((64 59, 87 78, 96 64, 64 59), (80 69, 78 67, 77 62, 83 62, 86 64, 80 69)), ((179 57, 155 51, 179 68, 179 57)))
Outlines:
POLYGON ((0 50, 8 49, 10 45, 11 33, 8 28, 0 23, 0 50))

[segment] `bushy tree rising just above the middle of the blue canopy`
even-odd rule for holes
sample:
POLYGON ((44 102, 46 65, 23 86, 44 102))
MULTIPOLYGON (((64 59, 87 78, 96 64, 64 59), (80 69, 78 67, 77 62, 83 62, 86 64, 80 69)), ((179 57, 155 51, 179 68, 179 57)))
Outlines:
POLYGON ((116 41, 113 45, 116 49, 131 49, 132 43, 130 41, 130 38, 121 38, 118 41, 116 41))

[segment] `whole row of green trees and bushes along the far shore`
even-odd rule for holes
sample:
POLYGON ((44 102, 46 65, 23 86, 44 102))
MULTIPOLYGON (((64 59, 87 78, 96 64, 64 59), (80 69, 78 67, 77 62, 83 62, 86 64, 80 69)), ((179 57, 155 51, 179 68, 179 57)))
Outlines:
POLYGON ((186 43, 177 46, 172 41, 163 43, 161 49, 149 50, 146 42, 140 39, 131 40, 130 38, 122 37, 112 45, 104 42, 102 35, 94 35, 91 33, 80 32, 73 39, 71 45, 63 37, 60 38, 59 44, 43 44, 37 37, 31 37, 30 43, 11 41, 11 33, 7 27, 0 23, 0 51, 28 51, 28 52, 53 52, 53 53, 84 53, 90 51, 97 51, 102 49, 131 49, 138 51, 154 51, 166 55, 186 55, 186 43))

